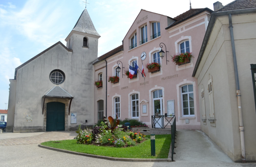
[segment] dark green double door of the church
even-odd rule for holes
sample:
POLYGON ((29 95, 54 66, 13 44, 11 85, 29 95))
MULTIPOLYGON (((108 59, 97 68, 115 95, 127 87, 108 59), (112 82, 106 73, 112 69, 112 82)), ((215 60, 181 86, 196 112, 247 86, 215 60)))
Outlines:
POLYGON ((65 104, 49 102, 46 111, 46 131, 60 130, 65 130, 65 104))

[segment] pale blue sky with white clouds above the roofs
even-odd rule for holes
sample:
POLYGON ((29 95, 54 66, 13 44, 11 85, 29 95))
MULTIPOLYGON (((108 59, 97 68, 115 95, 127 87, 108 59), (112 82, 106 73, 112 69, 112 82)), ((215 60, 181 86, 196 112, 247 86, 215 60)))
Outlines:
MULTIPOLYGON (((0 0, 0 109, 9 98, 15 68, 58 41, 75 26, 85 0, 0 0)), ((191 0, 192 8, 210 8, 217 0, 191 0)), ((232 0, 220 0, 223 5, 232 0)), ((141 9, 176 17, 189 10, 189 0, 87 0, 87 11, 101 35, 98 57, 122 45, 141 9)), ((36 86, 36 85, 35 85, 36 86)), ((8 104, 7 104, 8 108, 8 104)))

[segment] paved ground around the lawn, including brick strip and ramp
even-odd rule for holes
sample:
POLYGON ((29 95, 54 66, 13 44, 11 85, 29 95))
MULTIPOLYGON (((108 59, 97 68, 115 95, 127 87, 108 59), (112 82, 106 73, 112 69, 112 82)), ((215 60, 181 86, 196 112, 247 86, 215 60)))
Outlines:
POLYGON ((73 139, 75 131, 2 133, 0 144, 4 146, 0 147, 1 167, 256 167, 256 163, 234 163, 201 131, 178 130, 177 133, 176 162, 117 162, 38 147, 44 141, 73 139), (193 143, 186 145, 190 140, 193 143), (211 156, 202 151, 203 148, 213 150, 209 152, 211 156))

